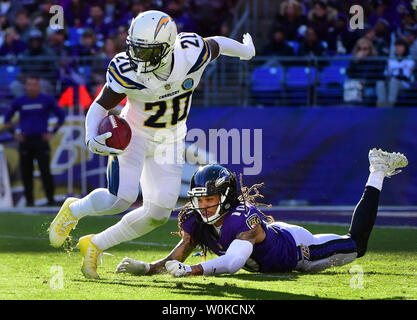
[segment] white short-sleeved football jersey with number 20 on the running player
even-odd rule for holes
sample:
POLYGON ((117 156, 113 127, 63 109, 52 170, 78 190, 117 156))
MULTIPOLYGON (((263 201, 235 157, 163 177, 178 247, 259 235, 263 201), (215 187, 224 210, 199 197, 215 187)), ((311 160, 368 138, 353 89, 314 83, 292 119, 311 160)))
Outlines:
POLYGON ((109 63, 106 80, 112 90, 126 94, 121 116, 133 134, 157 142, 184 139, 192 94, 210 57, 210 47, 202 37, 180 33, 174 44, 172 72, 161 81, 152 72, 138 76, 126 53, 117 54, 109 63))

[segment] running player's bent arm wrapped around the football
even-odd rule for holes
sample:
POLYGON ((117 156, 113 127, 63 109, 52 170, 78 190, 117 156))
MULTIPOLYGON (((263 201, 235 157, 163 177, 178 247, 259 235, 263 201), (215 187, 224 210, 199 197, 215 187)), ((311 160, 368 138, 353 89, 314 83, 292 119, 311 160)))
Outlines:
POLYGON ((111 132, 98 135, 98 127, 107 112, 116 107, 125 96, 123 93, 113 91, 105 84, 91 104, 85 119, 85 142, 91 152, 102 156, 119 155, 123 152, 123 150, 108 147, 105 141, 111 137, 111 132))

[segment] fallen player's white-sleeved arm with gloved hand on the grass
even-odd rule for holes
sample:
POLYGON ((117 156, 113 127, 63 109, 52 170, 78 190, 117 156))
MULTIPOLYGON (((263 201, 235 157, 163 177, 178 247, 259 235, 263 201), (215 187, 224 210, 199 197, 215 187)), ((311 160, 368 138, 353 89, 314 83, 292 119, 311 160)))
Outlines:
POLYGON ((175 277, 233 274, 245 265, 252 254, 254 244, 264 239, 265 232, 260 225, 257 225, 252 230, 239 233, 223 256, 193 266, 175 260, 168 261, 165 268, 175 277))

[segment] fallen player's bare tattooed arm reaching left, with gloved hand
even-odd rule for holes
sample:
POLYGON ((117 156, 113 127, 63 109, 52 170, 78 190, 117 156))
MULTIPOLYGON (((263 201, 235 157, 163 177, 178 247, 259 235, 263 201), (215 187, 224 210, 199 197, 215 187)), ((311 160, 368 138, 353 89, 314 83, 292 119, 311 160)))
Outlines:
POLYGON ((168 261, 185 261, 187 257, 193 252, 196 243, 191 236, 183 232, 182 240, 170 252, 168 256, 161 260, 152 263, 146 263, 131 258, 124 258, 116 268, 116 273, 130 273, 134 275, 152 275, 165 272, 165 264, 168 261))

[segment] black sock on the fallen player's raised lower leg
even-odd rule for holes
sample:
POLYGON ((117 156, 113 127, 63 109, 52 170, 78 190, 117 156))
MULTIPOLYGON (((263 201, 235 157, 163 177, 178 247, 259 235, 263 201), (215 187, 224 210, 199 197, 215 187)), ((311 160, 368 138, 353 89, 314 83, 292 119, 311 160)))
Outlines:
POLYGON ((380 191, 367 186, 353 211, 348 235, 356 242, 358 258, 362 257, 368 246, 368 239, 375 224, 378 212, 380 191))

